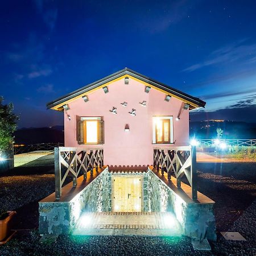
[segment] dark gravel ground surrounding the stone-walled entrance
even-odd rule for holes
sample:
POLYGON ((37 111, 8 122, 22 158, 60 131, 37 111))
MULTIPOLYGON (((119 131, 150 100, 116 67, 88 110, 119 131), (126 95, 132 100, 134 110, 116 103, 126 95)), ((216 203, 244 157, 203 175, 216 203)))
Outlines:
POLYGON ((16 210, 16 229, 30 229, 19 230, 0 247, 0 255, 256 255, 256 164, 232 164, 199 164, 199 191, 216 201, 217 231, 240 232, 245 242, 226 241, 217 233, 217 242, 211 243, 208 253, 194 251, 187 237, 62 235, 55 243, 42 245, 38 201, 54 191, 54 175, 51 168, 31 168, 0 176, 0 207, 16 210))

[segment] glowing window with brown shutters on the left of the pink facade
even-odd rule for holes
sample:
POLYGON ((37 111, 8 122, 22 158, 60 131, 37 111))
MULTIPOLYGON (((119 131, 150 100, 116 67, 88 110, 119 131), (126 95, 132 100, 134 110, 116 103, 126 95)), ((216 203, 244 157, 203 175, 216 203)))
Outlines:
POLYGON ((104 144, 104 121, 101 117, 81 117, 77 123, 79 144, 104 144))

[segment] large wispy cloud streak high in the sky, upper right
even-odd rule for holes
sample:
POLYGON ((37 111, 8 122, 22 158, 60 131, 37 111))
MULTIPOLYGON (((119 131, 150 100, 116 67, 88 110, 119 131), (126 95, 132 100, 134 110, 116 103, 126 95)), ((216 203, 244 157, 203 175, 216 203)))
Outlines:
POLYGON ((210 53, 207 60, 193 64, 183 71, 192 72, 211 65, 256 64, 256 44, 243 44, 246 39, 221 47, 210 53))

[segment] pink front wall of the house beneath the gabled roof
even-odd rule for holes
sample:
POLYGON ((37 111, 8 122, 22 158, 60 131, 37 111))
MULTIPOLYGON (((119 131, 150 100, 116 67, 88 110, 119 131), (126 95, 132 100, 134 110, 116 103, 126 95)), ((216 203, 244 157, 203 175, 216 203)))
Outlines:
POLYGON ((65 146, 103 147, 104 164, 113 166, 152 164, 153 146, 158 146, 152 144, 154 115, 173 115, 175 146, 188 145, 188 110, 181 111, 180 121, 175 120, 182 102, 174 97, 169 102, 164 101, 164 93, 153 88, 145 93, 144 87, 144 84, 133 79, 129 79, 129 85, 125 85, 122 79, 108 86, 109 93, 105 94, 103 89, 98 89, 88 95, 88 102, 79 98, 69 103, 70 109, 64 114, 65 146), (124 101, 127 102, 126 107, 121 105, 124 101), (147 101, 146 107, 139 104, 142 101, 147 101), (117 108, 117 114, 109 112, 113 106, 117 108), (128 113, 132 108, 136 109, 135 117, 128 113), (71 116, 71 121, 67 114, 71 116), (78 145, 76 115, 104 117, 104 145, 78 145), (126 123, 130 127, 129 132, 125 131, 126 123))

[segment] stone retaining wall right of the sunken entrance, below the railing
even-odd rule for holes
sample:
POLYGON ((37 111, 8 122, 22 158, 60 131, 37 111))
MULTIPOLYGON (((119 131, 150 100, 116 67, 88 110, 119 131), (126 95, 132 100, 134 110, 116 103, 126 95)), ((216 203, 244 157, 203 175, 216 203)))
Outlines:
POLYGON ((148 171, 148 205, 152 212, 174 212, 183 234, 189 237, 206 236, 216 240, 216 225, 212 203, 187 203, 150 169, 148 171))

